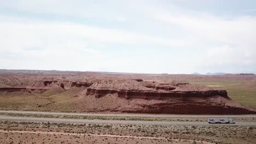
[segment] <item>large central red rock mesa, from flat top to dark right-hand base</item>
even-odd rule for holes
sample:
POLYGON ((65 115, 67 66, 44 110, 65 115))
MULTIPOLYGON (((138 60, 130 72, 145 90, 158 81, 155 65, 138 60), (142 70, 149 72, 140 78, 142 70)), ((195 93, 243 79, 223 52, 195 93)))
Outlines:
POLYGON ((125 82, 94 83, 86 89, 86 96, 103 99, 115 95, 125 99, 114 112, 176 113, 176 114, 250 114, 255 109, 235 103, 223 89, 195 86, 189 83, 158 83, 130 80, 125 82))

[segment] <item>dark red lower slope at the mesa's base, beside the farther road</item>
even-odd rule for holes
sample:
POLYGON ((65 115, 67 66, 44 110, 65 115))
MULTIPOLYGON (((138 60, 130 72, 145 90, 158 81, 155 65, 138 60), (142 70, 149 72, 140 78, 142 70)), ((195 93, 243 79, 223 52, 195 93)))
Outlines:
POLYGON ((123 107, 121 112, 133 113, 173 113, 173 114, 200 114, 200 115, 233 115, 233 114, 255 114, 255 110, 246 107, 230 105, 217 105, 213 103, 157 103, 152 105, 140 105, 137 109, 123 107))

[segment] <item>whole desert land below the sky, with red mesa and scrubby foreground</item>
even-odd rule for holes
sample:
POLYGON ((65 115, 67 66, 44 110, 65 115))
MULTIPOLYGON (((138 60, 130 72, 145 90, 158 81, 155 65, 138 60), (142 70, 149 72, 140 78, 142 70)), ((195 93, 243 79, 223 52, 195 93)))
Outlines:
POLYGON ((0 143, 255 143, 256 76, 0 70, 0 109, 0 143))

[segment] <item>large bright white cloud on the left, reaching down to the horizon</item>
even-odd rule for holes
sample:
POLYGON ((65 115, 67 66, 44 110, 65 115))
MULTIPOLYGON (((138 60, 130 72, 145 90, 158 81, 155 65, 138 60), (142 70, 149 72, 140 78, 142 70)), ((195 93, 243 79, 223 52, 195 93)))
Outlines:
POLYGON ((0 54, 8 57, 0 59, 5 63, 1 68, 141 72, 145 69, 139 65, 133 69, 131 59, 108 57, 90 46, 106 49, 104 44, 183 45, 182 41, 77 23, 12 20, 0 21, 0 54))

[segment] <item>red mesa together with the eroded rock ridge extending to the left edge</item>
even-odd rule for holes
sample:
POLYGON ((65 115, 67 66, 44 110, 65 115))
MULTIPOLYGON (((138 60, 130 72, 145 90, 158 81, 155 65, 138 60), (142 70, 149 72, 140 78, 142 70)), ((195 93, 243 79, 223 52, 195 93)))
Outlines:
MULTIPOLYGON (((50 95, 72 92, 73 103, 84 112, 137 112, 176 114, 251 114, 235 103, 224 89, 191 85, 187 82, 160 83, 142 79, 49 79, 34 77, 0 79, 0 96, 19 92, 50 95), (79 91, 72 91, 77 88, 79 91), (101 107, 95 109, 91 107, 101 107)), ((24 94, 26 95, 26 94, 24 94)), ((55 101, 57 103, 58 101, 55 101)), ((51 105, 54 103, 49 103, 51 105)))

